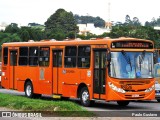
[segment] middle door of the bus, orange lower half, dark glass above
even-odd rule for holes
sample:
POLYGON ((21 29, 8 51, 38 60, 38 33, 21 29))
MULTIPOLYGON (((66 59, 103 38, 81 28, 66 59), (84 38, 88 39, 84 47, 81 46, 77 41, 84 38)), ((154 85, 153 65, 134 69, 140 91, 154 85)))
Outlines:
POLYGON ((60 77, 61 77, 61 70, 62 70, 62 54, 63 50, 53 50, 53 94, 60 94, 61 87, 60 87, 60 77))

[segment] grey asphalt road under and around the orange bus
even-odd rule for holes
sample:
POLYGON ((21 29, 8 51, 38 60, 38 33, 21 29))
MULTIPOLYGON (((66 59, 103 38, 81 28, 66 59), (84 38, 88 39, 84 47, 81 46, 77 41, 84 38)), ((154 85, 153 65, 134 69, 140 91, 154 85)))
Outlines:
MULTIPOLYGON (((24 92, 17 92, 14 90, 6 90, 1 88, 0 88, 0 93, 24 96, 24 92)), ((51 99, 48 96, 43 96, 42 99, 45 98, 51 99)), ((71 101, 79 104, 77 100, 71 100, 71 101)), ((141 118, 142 120, 160 119, 160 103, 158 103, 156 100, 130 102, 130 104, 125 107, 118 106, 116 102, 96 101, 92 107, 84 107, 84 108, 87 109, 88 111, 92 111, 99 117, 103 117, 103 119, 105 118, 105 120, 106 119, 112 120, 114 118, 118 120, 121 120, 121 118, 123 118, 123 120, 125 119, 128 120, 128 118, 135 120, 137 117, 138 119, 141 118)), ((3 109, 1 110, 0 108, 0 111, 3 111, 3 109)))

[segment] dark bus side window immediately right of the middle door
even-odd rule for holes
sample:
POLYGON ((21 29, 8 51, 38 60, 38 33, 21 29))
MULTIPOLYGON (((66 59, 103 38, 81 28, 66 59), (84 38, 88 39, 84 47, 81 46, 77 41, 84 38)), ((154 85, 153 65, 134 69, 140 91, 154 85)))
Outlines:
POLYGON ((77 56, 77 47, 76 46, 67 46, 65 48, 65 67, 76 67, 76 56, 77 56))

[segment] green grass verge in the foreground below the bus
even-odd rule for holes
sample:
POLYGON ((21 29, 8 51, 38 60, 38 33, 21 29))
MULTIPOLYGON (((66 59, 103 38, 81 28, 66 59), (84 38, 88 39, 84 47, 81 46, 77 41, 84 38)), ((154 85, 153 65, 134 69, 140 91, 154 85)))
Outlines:
POLYGON ((0 93, 0 106, 16 110, 42 112, 56 116, 92 117, 93 113, 71 101, 30 99, 0 93))

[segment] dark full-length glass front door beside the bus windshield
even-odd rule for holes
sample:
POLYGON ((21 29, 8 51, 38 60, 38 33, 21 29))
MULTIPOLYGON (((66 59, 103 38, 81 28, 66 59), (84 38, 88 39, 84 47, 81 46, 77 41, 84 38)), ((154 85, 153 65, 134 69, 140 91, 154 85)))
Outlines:
POLYGON ((95 99, 105 99, 106 50, 94 51, 93 93, 95 99))

